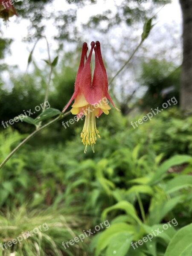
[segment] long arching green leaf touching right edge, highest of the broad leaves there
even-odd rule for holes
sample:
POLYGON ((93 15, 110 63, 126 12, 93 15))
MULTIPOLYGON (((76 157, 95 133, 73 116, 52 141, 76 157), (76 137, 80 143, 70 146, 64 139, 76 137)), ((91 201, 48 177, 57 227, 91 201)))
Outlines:
POLYGON ((187 155, 175 155, 174 157, 170 158, 169 160, 166 160, 162 165, 157 169, 155 174, 153 175, 150 184, 155 184, 159 180, 163 179, 165 176, 165 173, 168 171, 168 169, 172 166, 181 165, 183 163, 189 163, 192 161, 192 157, 187 155))

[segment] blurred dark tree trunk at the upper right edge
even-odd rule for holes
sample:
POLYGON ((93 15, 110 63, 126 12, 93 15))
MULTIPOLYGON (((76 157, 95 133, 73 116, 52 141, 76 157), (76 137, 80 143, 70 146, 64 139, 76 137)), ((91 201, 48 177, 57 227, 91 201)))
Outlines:
POLYGON ((181 75, 181 109, 192 108, 192 0, 180 0, 183 14, 183 64, 181 75))

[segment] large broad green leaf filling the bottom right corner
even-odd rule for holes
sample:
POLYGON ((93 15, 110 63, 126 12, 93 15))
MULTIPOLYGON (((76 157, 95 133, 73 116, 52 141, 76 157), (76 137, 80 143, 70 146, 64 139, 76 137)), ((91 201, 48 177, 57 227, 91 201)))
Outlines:
POLYGON ((170 241, 165 256, 192 255, 192 224, 181 228, 170 241))

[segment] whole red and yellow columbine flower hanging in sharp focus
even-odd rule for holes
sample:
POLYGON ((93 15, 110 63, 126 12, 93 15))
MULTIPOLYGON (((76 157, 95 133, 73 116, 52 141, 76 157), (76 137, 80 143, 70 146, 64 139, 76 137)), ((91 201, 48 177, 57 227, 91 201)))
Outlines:
POLYGON ((85 153, 87 151, 87 145, 91 145, 94 152, 94 144, 96 143, 97 137, 100 138, 99 131, 96 128, 95 117, 99 118, 102 113, 108 115, 111 109, 108 105, 108 100, 115 107, 108 93, 108 77, 102 60, 99 41, 96 41, 96 43, 91 42, 88 57, 87 50, 87 43, 84 43, 79 70, 76 76, 75 91, 63 111, 65 112, 73 99, 75 99, 71 113, 77 115, 78 119, 85 115, 84 127, 81 132, 82 143, 85 145, 85 153), (95 52, 95 70, 92 79, 90 63, 93 49, 95 52))

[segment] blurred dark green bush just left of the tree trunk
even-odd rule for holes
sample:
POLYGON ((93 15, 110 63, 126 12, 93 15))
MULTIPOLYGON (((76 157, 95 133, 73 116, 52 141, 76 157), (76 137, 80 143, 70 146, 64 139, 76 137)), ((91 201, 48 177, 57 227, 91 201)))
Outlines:
POLYGON ((175 97, 180 102, 180 67, 166 60, 151 59, 143 63, 139 83, 146 88, 140 100, 140 107, 145 110, 157 108, 175 97))

